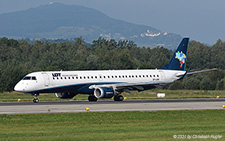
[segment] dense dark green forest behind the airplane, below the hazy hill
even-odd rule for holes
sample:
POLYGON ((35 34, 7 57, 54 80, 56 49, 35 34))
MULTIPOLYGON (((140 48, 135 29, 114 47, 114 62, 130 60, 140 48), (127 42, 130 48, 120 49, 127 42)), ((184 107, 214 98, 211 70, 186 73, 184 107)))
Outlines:
MULTIPOLYGON (((99 38, 87 45, 82 38, 74 43, 34 44, 21 40, 0 38, 0 91, 11 91, 26 74, 54 70, 109 70, 161 68, 173 52, 163 48, 137 47, 133 41, 99 38)), ((225 42, 218 40, 208 47, 191 41, 187 68, 218 71, 198 74, 170 85, 171 89, 224 89, 225 42)))

